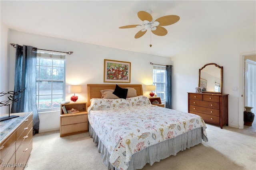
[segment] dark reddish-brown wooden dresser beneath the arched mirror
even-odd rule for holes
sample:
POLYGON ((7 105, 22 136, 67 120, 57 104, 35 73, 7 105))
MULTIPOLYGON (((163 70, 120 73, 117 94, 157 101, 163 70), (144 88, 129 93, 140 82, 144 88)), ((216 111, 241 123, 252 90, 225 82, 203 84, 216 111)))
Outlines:
POLYGON ((200 115, 205 122, 228 126, 228 94, 188 93, 188 113, 200 115))

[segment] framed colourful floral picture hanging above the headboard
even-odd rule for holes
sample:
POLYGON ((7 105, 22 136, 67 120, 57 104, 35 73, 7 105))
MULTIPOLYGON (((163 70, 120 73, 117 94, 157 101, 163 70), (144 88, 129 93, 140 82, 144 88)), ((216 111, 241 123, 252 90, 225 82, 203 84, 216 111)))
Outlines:
POLYGON ((104 82, 131 82, 131 63, 104 59, 104 82))

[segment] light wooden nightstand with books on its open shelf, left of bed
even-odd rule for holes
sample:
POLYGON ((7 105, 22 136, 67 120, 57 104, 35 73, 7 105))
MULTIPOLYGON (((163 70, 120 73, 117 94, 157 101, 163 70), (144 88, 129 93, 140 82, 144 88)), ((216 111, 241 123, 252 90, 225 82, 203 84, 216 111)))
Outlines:
POLYGON ((87 102, 74 102, 60 105, 60 137, 88 132, 87 102), (78 109, 78 113, 64 114, 62 106, 66 110, 78 109))

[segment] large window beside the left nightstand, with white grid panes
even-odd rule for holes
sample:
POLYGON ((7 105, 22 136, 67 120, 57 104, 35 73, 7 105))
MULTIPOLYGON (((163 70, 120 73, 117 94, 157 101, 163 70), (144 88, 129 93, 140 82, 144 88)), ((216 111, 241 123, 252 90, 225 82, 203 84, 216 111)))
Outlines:
POLYGON ((65 55, 39 52, 36 57, 36 105, 38 111, 60 109, 65 100, 65 55))

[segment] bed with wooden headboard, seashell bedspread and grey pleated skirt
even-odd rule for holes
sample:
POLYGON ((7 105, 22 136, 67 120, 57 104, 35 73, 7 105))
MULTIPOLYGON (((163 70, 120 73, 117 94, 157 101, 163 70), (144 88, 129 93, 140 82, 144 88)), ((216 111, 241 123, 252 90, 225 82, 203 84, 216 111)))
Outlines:
POLYGON ((88 84, 89 133, 109 170, 142 169, 179 151, 208 142, 206 124, 191 113, 154 106, 140 84, 118 84, 136 96, 102 98, 116 84, 88 84))

